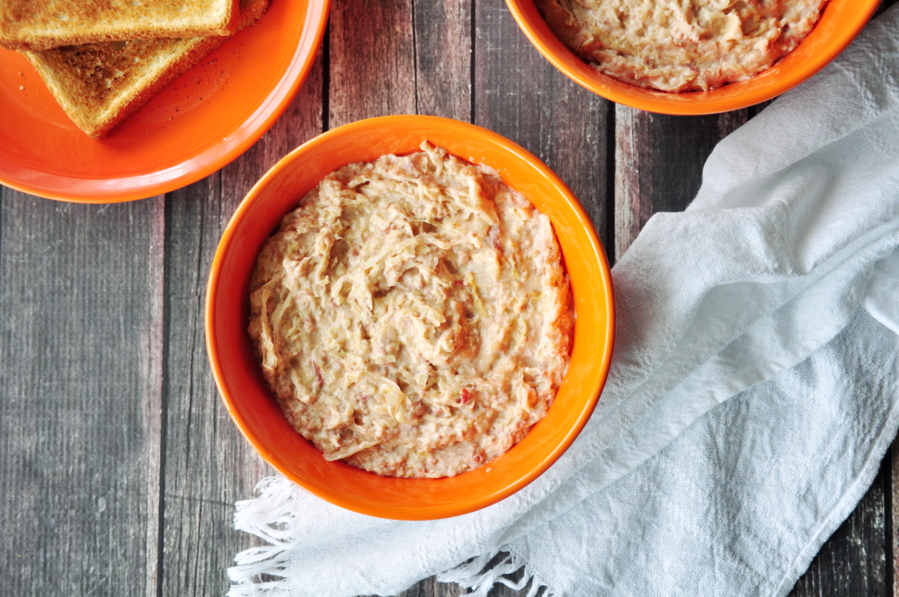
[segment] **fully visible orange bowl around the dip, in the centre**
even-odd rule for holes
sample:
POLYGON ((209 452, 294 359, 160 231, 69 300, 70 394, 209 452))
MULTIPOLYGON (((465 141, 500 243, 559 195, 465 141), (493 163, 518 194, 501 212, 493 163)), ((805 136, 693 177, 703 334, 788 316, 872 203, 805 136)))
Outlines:
POLYGON ((265 174, 228 223, 209 273, 209 363, 234 419, 274 468, 311 493, 355 512, 430 520, 473 512, 526 486, 574 441, 599 398, 611 359, 614 308, 609 265, 590 219, 546 165, 489 130, 429 116, 360 120, 298 147, 265 174), (299 200, 326 174, 386 154, 409 154, 424 139, 496 170, 553 223, 571 278, 576 321, 571 363, 547 416, 499 459, 458 477, 378 477, 328 462, 290 427, 263 379, 247 324, 256 254, 299 200))

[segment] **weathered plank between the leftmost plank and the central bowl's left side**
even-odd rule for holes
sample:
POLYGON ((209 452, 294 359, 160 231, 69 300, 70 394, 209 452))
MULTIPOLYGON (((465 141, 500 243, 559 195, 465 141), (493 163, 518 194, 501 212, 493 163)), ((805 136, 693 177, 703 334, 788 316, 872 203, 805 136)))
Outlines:
POLYGON ((227 567, 254 544, 232 528, 234 503, 251 497, 272 471, 218 397, 204 343, 206 281, 237 204, 280 157, 321 132, 321 106, 319 58, 289 109, 254 147, 167 198, 163 595, 224 595, 227 567))

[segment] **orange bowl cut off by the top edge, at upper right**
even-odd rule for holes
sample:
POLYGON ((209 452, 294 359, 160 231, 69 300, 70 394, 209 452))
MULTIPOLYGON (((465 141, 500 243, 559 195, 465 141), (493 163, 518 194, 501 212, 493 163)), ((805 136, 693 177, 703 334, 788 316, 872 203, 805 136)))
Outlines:
POLYGON ((829 0, 805 40, 773 67, 751 79, 707 92, 669 94, 603 75, 568 49, 543 20, 534 0, 506 0, 509 10, 544 58, 594 94, 631 108, 662 114, 715 114, 739 110, 782 94, 821 70, 858 35, 880 0, 829 0))

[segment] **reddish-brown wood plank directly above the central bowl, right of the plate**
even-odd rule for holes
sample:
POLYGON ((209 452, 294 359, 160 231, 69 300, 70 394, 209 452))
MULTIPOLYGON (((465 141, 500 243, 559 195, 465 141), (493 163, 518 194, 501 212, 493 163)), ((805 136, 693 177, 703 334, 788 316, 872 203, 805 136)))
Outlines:
POLYGON ((329 127, 387 114, 468 120, 470 12, 469 0, 334 2, 329 127))

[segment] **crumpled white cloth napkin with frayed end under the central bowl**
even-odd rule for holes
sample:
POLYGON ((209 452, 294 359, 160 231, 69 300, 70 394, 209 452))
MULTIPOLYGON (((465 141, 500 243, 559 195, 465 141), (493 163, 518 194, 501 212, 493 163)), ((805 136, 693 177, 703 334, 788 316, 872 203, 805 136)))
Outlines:
POLYGON ((235 519, 270 545, 228 594, 485 595, 520 566, 531 593, 788 593, 899 424, 899 7, 725 138, 613 276, 608 383, 547 473, 427 522, 266 479, 235 519))

